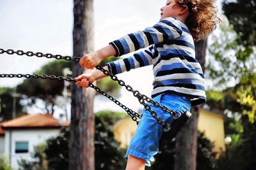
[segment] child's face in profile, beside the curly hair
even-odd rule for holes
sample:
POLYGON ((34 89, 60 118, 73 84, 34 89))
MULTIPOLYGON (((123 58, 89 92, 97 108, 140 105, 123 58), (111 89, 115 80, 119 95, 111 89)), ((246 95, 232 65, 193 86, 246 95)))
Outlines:
POLYGON ((175 0, 167 0, 166 5, 162 7, 161 10, 161 19, 166 17, 177 17, 181 6, 175 2, 175 0))

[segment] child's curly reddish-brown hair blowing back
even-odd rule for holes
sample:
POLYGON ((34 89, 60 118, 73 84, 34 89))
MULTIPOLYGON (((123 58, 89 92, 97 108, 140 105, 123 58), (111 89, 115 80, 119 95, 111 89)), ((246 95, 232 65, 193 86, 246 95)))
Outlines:
POLYGON ((221 22, 217 16, 216 0, 175 0, 175 2, 181 6, 188 6, 189 16, 185 24, 195 41, 205 38, 221 22))

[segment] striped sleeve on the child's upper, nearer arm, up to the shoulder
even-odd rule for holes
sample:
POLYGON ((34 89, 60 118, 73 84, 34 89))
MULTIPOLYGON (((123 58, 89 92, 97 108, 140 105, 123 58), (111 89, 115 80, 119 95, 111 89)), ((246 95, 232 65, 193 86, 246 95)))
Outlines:
POLYGON ((116 57, 126 53, 134 52, 152 44, 170 41, 182 34, 182 25, 175 18, 164 18, 153 27, 147 27, 144 31, 136 31, 131 34, 112 41, 116 50, 116 57))

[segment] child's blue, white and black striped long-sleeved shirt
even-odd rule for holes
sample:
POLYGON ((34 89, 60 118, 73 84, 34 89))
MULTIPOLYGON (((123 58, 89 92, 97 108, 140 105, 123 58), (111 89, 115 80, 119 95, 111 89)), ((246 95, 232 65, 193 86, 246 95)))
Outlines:
POLYGON ((109 43, 116 57, 142 51, 121 60, 109 62, 109 71, 123 73, 138 67, 153 65, 152 97, 163 93, 188 96, 191 105, 205 103, 205 78, 188 27, 175 18, 164 18, 153 27, 136 31, 109 43))

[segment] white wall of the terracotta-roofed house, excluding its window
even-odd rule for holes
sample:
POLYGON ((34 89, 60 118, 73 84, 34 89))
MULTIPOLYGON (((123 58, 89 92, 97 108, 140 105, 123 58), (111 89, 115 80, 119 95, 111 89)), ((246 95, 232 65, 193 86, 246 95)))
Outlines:
POLYGON ((35 130, 4 130, 5 132, 5 141, 4 153, 7 155, 7 158, 13 169, 18 169, 19 164, 18 160, 25 159, 31 160, 31 153, 34 151, 34 146, 44 143, 46 139, 49 139, 53 136, 58 136, 59 129, 35 129, 35 130), (12 142, 10 142, 12 141, 12 142), (15 153, 15 142, 16 141, 28 141, 29 151, 28 153, 15 153), (11 151, 11 154, 10 154, 11 151))

